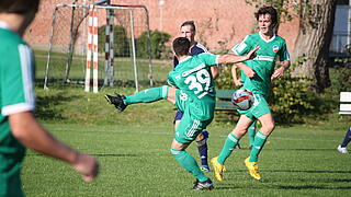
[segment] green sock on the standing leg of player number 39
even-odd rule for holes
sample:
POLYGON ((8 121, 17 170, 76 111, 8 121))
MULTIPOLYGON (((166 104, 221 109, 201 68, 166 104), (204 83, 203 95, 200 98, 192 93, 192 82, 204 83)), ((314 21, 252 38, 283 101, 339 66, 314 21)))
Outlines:
POLYGON ((208 179, 208 177, 200 170, 195 159, 186 151, 171 149, 171 153, 174 155, 178 163, 188 172, 192 173, 200 182, 208 179))

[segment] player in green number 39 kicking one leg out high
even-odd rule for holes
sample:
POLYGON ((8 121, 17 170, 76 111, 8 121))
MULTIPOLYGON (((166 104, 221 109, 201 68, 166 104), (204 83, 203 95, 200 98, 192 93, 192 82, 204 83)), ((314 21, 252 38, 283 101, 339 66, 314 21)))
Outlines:
MULTIPOLYGON (((147 89, 131 96, 106 94, 105 99, 121 112, 131 104, 159 100, 168 100, 176 104, 183 112, 183 117, 176 129, 171 153, 181 166, 196 177, 193 189, 212 189, 212 181, 200 170, 194 158, 185 151, 214 117, 216 91, 211 67, 251 59, 258 48, 253 48, 246 56, 218 56, 205 53, 190 56, 191 44, 188 38, 178 37, 173 40, 172 46, 179 65, 168 74, 169 85, 147 89)), ((253 77, 254 72, 251 68, 246 65, 239 67, 247 76, 253 77)))

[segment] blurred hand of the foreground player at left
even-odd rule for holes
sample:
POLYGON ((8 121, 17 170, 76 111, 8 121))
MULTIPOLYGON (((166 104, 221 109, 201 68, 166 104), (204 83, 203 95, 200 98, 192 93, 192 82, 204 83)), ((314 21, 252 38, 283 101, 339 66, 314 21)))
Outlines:
POLYGON ((99 174, 98 161, 88 154, 77 153, 73 169, 83 175, 83 181, 92 182, 99 174))

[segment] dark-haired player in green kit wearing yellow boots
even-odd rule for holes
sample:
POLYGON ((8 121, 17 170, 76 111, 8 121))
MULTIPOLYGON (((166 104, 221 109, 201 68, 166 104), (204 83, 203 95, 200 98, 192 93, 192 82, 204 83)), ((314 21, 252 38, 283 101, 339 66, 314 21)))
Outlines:
POLYGON ((261 128, 254 137, 250 157, 245 160, 245 164, 253 178, 261 178, 258 172, 258 155, 275 126, 268 105, 271 80, 282 77, 291 63, 285 40, 274 34, 274 27, 278 23, 276 10, 272 7, 263 7, 256 13, 256 19, 259 24, 259 32, 246 36, 233 49, 237 55, 245 55, 256 45, 260 46, 260 49, 256 51, 257 57, 244 62, 252 68, 256 74, 254 77, 247 76, 242 88, 251 91, 256 101, 248 111, 239 111, 240 118, 234 130, 228 135, 219 155, 211 160, 215 177, 218 181, 224 179, 223 171, 225 170, 224 163, 226 159, 231 154, 240 138, 247 132, 248 127, 257 119, 260 120, 261 128), (282 65, 275 69, 278 58, 282 65))

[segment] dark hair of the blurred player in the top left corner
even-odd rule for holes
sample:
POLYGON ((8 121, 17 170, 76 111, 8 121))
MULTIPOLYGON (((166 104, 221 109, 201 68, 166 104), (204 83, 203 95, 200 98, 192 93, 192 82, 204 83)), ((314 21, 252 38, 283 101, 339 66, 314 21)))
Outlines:
POLYGON ((24 14, 31 11, 37 12, 41 0, 0 0, 0 13, 24 14))

